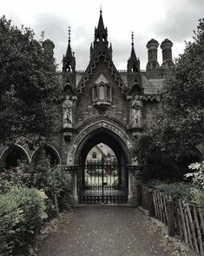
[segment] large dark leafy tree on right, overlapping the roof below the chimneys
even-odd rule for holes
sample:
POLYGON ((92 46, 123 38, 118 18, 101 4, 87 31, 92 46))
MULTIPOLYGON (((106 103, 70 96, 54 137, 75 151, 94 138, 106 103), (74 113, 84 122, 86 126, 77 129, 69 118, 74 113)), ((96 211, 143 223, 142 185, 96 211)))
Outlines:
POLYGON ((204 19, 193 42, 175 59, 157 109, 148 113, 148 131, 138 138, 135 153, 147 160, 152 152, 179 158, 203 139, 204 125, 204 19))

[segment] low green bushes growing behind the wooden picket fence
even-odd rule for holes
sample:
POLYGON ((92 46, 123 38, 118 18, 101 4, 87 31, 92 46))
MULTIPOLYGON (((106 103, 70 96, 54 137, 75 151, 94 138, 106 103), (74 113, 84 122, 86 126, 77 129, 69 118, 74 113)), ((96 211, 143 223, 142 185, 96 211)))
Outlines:
POLYGON ((165 182, 152 180, 148 182, 147 185, 159 190, 160 192, 167 193, 172 197, 172 199, 182 199, 188 203, 193 201, 193 195, 190 193, 193 185, 188 182, 165 182))

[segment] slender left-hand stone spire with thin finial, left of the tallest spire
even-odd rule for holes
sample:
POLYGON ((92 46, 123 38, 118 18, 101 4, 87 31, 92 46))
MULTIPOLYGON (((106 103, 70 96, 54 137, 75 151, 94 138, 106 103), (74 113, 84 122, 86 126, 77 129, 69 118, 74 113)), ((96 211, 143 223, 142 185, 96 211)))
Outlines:
POLYGON ((71 30, 69 27, 69 39, 68 39, 68 48, 66 55, 63 56, 63 71, 73 72, 76 70, 76 58, 74 52, 71 51, 71 30))

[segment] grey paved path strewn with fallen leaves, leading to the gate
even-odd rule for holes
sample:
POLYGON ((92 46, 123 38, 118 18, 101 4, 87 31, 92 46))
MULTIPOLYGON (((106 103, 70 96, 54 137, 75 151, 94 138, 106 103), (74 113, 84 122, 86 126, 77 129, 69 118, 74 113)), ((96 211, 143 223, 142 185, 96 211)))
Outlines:
POLYGON ((128 206, 79 206, 63 215, 37 256, 150 256, 179 253, 144 213, 128 206))

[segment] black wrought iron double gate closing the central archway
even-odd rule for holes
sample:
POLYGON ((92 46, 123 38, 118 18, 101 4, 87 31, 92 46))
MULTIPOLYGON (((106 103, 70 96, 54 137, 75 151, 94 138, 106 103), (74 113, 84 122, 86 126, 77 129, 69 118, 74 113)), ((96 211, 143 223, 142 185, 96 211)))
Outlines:
POLYGON ((80 204, 124 204, 128 200, 124 165, 88 162, 78 173, 80 204))

